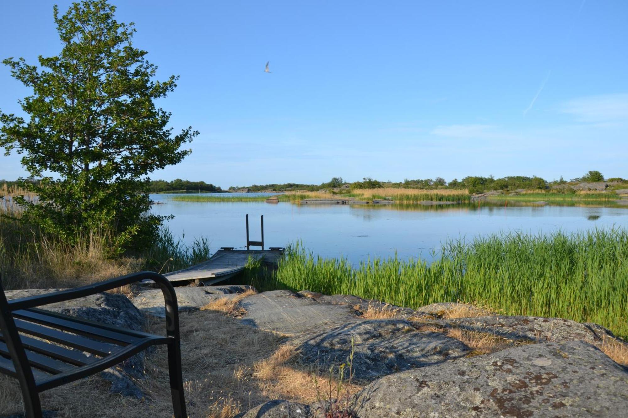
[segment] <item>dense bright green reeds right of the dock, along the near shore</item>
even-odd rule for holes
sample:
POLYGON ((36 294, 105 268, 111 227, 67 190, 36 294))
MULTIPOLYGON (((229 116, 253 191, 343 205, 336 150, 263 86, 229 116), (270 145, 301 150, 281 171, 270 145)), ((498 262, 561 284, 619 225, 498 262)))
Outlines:
POLYGON ((354 294, 418 308, 480 303, 505 314, 595 322, 628 336, 628 233, 493 235, 450 241, 425 260, 372 259, 352 266, 290 247, 263 289, 354 294))

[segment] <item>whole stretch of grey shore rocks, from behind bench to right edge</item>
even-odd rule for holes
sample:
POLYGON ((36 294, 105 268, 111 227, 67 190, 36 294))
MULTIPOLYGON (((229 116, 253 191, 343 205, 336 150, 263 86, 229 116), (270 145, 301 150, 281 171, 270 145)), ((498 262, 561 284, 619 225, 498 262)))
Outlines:
MULTIPOLYGON (((12 299, 48 291, 6 294, 12 299)), ((344 400, 347 415, 338 416, 617 417, 628 410, 628 368, 605 354, 611 342, 622 352, 628 344, 597 324, 504 316, 460 303, 413 310, 350 295, 254 294, 249 286, 176 292, 181 311, 231 301, 241 324, 281 335, 296 353, 292 361, 321 375, 353 355, 354 382, 362 389, 344 400)), ((144 318, 163 317, 163 296, 147 287, 128 298, 99 294, 46 309, 139 329, 144 318)), ((150 355, 141 353, 101 377, 112 392, 140 399, 133 380, 150 355)), ((237 416, 317 417, 325 408, 270 400, 237 416)))

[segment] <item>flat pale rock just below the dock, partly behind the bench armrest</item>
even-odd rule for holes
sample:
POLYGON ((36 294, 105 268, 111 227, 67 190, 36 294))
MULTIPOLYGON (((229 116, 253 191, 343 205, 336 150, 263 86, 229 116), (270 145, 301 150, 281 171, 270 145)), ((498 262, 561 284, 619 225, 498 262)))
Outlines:
MULTIPOLYGON (((249 286, 246 286, 247 288, 249 286)), ((198 310, 206 304, 224 297, 236 297, 245 291, 243 286, 175 287, 179 311, 198 310)), ((161 289, 145 289, 133 297, 133 304, 143 313, 165 318, 166 308, 161 289)))

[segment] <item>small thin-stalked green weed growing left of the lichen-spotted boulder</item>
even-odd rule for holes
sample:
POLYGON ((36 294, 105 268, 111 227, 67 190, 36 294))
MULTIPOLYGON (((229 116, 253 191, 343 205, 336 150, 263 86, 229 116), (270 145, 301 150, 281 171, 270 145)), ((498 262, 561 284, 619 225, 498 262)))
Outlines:
POLYGON ((353 359, 355 352, 355 340, 351 337, 351 353, 347 361, 339 366, 332 365, 329 368, 327 387, 323 394, 318 389, 318 379, 313 373, 316 386, 318 404, 325 418, 355 418, 353 405, 350 402, 349 386, 353 380, 353 359), (348 376, 345 375, 348 373, 348 376))

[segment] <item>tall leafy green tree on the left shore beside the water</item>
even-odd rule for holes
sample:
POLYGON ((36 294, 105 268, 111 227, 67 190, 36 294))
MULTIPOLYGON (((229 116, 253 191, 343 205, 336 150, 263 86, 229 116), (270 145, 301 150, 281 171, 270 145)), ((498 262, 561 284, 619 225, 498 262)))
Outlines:
POLYGON ((0 146, 16 151, 40 183, 22 182, 39 196, 22 200, 28 219, 72 244, 78 235, 113 230, 116 248, 141 245, 163 217, 148 215, 148 174, 181 161, 181 146, 198 132, 173 135, 170 113, 155 106, 177 77, 154 81, 157 67, 135 48, 133 23, 118 23, 106 0, 73 3, 54 19, 63 48, 3 61, 32 88, 19 103, 28 119, 0 112, 0 146))

